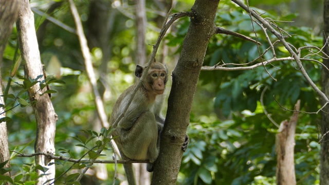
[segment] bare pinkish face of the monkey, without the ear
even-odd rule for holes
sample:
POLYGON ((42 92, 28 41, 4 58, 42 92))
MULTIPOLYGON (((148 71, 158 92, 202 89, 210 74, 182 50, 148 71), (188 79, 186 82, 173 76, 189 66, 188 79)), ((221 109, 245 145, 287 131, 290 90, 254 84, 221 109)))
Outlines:
POLYGON ((164 70, 152 70, 150 73, 151 87, 157 95, 163 94, 166 87, 167 72, 164 70))

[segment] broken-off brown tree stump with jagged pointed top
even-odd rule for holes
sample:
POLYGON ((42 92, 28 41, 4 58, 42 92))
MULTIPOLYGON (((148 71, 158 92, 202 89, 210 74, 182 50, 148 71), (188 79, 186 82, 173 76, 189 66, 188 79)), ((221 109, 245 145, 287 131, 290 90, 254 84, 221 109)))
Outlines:
MULTIPOLYGON (((295 105, 300 108, 300 100, 295 105)), ((277 150, 277 184, 296 184, 294 146, 295 133, 299 112, 295 112, 290 121, 284 120, 280 124, 279 133, 276 135, 277 150)))

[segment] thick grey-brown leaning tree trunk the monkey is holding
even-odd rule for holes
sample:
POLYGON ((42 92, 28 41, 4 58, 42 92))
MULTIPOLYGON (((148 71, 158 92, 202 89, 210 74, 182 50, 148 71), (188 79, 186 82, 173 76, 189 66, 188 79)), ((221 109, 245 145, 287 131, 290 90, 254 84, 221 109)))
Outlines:
POLYGON ((160 154, 151 184, 175 184, 180 168, 192 100, 209 39, 215 32, 214 18, 219 0, 196 0, 191 24, 182 43, 181 55, 173 71, 165 126, 161 133, 160 154))

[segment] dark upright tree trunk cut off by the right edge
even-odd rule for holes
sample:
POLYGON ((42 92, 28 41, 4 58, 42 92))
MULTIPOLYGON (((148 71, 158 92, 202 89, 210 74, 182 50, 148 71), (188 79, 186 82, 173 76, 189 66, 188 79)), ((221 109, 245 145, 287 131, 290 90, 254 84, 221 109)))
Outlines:
MULTIPOLYGON (((324 52, 329 54, 328 43, 326 43, 326 36, 329 35, 329 0, 323 1, 323 45, 324 52)), ((323 59, 323 65, 329 67, 329 61, 323 59)), ((321 72, 321 86, 322 92, 325 96, 329 96, 329 72, 322 67, 321 72)), ((325 101, 321 100, 321 104, 324 105, 325 101)), ((322 134, 329 131, 329 108, 328 106, 323 108, 321 111, 321 130, 322 134)), ((324 141, 329 140, 329 138, 324 138, 324 141)), ((329 142, 321 143, 321 159, 320 159, 320 184, 329 184, 329 142)))

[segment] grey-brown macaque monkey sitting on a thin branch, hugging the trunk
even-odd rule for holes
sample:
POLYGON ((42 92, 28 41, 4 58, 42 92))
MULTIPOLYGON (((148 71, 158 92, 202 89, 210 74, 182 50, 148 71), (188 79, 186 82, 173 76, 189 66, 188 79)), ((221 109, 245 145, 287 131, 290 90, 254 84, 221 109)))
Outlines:
MULTIPOLYGON (((137 65, 136 77, 142 76, 143 70, 147 67, 137 65)), ((165 123, 165 118, 160 114, 164 98, 166 83, 168 81, 168 69, 166 65, 152 62, 150 69, 138 88, 132 103, 126 114, 118 122, 113 136, 118 145, 123 160, 150 160, 147 170, 153 172, 153 163, 159 155, 160 133, 165 123)), ((131 93, 138 82, 127 88, 116 101, 110 125, 123 113, 125 105, 128 103, 131 93)), ((185 151, 188 144, 187 139, 182 146, 185 151)), ((135 185, 135 177, 132 164, 123 164, 128 183, 135 185)))

